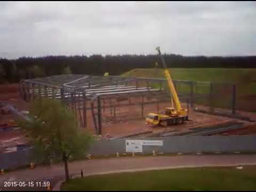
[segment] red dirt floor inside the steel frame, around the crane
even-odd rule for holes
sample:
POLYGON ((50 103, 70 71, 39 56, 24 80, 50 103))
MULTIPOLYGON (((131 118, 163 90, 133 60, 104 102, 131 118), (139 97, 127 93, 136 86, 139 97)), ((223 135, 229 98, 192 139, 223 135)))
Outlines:
MULTIPOLYGON (((138 102, 138 99, 132 99, 132 102, 138 102)), ((127 101, 123 101, 123 103, 127 103, 127 101)), ((161 103, 159 105, 159 112, 164 112, 166 107, 169 107, 170 103, 161 103)), ((183 105, 184 108, 186 108, 186 105, 183 105)), ((146 114, 150 112, 157 113, 157 107, 156 104, 150 104, 144 107, 144 117, 146 114)), ((194 126, 200 126, 200 125, 210 125, 215 123, 224 123, 227 121, 231 121, 234 119, 227 118, 227 117, 221 117, 221 116, 214 116, 214 115, 208 115, 204 113, 197 113, 193 110, 189 110, 189 119, 192 121, 188 121, 185 124, 180 125, 173 125, 171 126, 172 129, 174 128, 174 131, 188 131, 189 128, 194 126)), ((88 128, 83 128, 84 130, 89 129, 90 131, 94 130, 94 124, 92 121, 92 115, 91 111, 87 111, 87 125, 88 128)), ((254 118, 256 115, 254 114, 254 118)), ((111 118, 110 115, 110 109, 105 109, 105 112, 102 110, 102 119, 103 119, 103 127, 102 127, 102 135, 110 135, 111 137, 114 137, 116 135, 131 133, 131 132, 137 132, 137 131, 147 131, 151 130, 153 132, 159 132, 166 130, 165 127, 147 127, 145 124, 145 118, 141 118, 141 106, 128 106, 128 107, 116 107, 116 121, 114 121, 114 118, 111 118)), ((235 121, 238 121, 235 119, 235 121)), ((239 121, 243 122, 244 125, 251 125, 252 123, 245 122, 245 121, 239 121)))

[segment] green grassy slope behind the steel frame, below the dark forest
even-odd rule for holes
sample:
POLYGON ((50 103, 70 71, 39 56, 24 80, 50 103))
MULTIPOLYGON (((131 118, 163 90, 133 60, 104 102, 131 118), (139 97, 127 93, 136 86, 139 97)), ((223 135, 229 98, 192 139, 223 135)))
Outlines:
MULTIPOLYGON (((244 111, 256 111, 256 69, 238 68, 171 68, 170 73, 173 79, 189 80, 199 82, 232 83, 236 84, 236 109, 244 111)), ((163 77, 163 69, 134 69, 122 74, 124 77, 163 77)), ((157 88, 159 84, 151 84, 157 88)), ((196 94, 209 94, 210 84, 197 83, 194 87, 196 94)), ((167 88, 167 84, 164 86, 167 88)), ((231 108, 232 86, 214 84, 214 106, 231 108)), ((190 86, 182 84, 177 87, 179 93, 190 93, 190 86)), ((200 105, 208 105, 209 100, 197 100, 200 105)))

